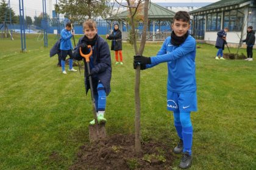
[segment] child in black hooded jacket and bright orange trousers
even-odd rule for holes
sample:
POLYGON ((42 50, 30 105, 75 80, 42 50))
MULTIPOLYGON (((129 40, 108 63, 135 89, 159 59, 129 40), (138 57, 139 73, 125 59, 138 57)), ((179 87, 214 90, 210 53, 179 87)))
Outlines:
POLYGON ((123 65, 123 54, 122 54, 122 32, 119 30, 119 25, 114 25, 114 30, 111 35, 106 35, 107 39, 112 39, 111 50, 115 51, 116 64, 123 65), (118 54, 120 57, 120 63, 118 60, 118 54))

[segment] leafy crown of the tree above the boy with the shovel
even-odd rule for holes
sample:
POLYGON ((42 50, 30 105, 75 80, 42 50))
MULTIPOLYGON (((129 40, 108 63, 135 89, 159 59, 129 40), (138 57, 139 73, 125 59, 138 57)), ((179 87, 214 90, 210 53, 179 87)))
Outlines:
POLYGON ((55 9, 59 9, 58 13, 68 13, 73 19, 94 18, 102 16, 104 18, 110 10, 107 2, 109 0, 60 0, 59 7, 55 5, 55 9))

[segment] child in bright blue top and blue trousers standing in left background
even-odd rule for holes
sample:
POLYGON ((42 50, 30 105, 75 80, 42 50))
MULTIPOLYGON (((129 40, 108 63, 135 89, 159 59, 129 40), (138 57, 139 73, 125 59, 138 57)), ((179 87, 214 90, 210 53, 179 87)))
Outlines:
POLYGON ((71 31, 71 23, 68 22, 66 23, 66 27, 65 29, 62 30, 62 32, 60 32, 60 57, 62 58, 61 64, 62 64, 62 73, 66 74, 66 70, 65 70, 65 63, 66 63, 66 56, 69 55, 69 71, 70 72, 77 72, 77 70, 75 70, 73 68, 73 46, 71 43, 71 38, 72 36, 74 36, 74 32, 70 32, 71 31))

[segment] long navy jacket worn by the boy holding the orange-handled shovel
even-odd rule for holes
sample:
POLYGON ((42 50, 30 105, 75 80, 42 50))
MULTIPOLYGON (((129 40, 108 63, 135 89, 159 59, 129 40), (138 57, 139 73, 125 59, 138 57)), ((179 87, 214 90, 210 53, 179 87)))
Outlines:
MULTIPOLYGON (((82 60, 84 59, 79 52, 79 46, 80 44, 85 43, 85 36, 82 36, 77 46, 74 49, 73 57, 76 60, 82 60)), ((85 69, 87 70, 87 64, 85 63, 85 69)), ((105 88, 105 92, 108 95, 111 91, 110 89, 110 80, 112 76, 112 66, 111 66, 111 57, 110 57, 110 50, 108 47, 107 42, 101 38, 101 36, 98 36, 98 39, 95 42, 95 45, 93 46, 93 72, 96 72, 96 75, 98 76, 98 79, 101 81, 105 88)), ((87 71, 86 71, 87 72, 87 71)), ((90 85, 88 83, 88 77, 85 72, 85 87, 86 87, 86 93, 90 89, 90 85)))

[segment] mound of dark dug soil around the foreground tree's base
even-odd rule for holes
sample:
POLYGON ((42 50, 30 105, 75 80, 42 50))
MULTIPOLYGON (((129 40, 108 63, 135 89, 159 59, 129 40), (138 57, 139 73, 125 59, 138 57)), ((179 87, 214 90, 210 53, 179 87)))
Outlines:
POLYGON ((76 163, 69 169, 171 169, 174 155, 163 143, 141 144, 141 154, 134 151, 134 135, 113 135, 80 146, 76 163))

